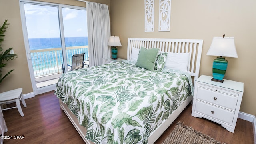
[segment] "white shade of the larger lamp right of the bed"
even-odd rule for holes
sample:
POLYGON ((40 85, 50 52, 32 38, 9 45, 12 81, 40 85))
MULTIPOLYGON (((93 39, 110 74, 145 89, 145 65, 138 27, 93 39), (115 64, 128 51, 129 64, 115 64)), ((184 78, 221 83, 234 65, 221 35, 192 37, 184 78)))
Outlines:
POLYGON ((214 37, 206 55, 237 58, 234 37, 214 37))

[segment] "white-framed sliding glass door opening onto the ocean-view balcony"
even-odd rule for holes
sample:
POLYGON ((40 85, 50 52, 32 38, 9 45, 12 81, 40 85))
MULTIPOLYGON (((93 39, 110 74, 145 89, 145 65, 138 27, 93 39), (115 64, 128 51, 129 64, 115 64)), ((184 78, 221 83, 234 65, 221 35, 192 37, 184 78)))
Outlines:
POLYGON ((74 54, 88 59, 86 9, 24 0, 20 10, 34 92, 54 90, 74 54))

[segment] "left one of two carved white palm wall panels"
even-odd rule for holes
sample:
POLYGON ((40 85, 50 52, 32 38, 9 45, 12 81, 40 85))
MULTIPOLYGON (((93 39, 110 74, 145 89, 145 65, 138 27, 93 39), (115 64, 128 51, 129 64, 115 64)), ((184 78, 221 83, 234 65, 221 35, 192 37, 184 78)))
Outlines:
POLYGON ((154 32, 154 0, 145 0, 145 32, 154 32))

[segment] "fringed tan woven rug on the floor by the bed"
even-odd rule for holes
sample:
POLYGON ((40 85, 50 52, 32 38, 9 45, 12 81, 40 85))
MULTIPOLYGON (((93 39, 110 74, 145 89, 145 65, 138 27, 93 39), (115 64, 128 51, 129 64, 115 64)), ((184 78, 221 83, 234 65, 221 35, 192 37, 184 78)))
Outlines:
POLYGON ((162 142, 162 144, 226 144, 221 143, 202 132, 198 132, 183 122, 177 122, 177 126, 162 142))

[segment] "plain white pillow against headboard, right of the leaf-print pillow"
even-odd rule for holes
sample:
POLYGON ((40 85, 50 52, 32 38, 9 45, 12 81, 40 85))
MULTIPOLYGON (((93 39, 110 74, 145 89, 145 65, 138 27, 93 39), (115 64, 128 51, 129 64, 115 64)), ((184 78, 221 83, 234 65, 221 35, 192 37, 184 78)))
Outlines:
POLYGON ((188 71, 188 61, 190 53, 168 52, 164 68, 188 71))

